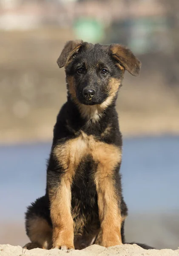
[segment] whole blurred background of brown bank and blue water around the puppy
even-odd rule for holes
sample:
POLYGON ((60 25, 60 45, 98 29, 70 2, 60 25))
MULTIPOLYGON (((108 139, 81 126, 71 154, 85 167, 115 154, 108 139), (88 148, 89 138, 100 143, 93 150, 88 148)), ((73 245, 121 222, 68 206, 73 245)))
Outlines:
POLYGON ((0 244, 23 246, 26 207, 45 192, 68 40, 127 45, 117 110, 124 137, 126 241, 179 246, 179 1, 0 0, 0 244))

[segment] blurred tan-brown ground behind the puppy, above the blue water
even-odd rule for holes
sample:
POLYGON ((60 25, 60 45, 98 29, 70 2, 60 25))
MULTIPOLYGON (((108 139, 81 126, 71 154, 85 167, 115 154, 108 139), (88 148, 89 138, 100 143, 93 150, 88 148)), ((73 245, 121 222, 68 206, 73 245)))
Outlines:
MULTIPOLYGON (((56 60, 70 39, 74 39, 70 29, 0 31, 2 143, 51 140, 57 113, 66 100, 65 73, 56 60)), ((166 84, 162 58, 157 63, 152 55, 138 57, 141 75, 126 73, 119 92, 122 133, 178 134, 179 87, 166 84)))

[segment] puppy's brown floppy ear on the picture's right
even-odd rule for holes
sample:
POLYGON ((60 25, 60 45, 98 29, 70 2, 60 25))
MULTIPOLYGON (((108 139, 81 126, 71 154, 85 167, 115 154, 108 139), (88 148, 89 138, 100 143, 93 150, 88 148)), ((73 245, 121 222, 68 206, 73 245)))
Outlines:
POLYGON ((120 44, 111 44, 110 50, 112 57, 131 73, 131 75, 139 76, 141 62, 134 56, 130 49, 120 44))

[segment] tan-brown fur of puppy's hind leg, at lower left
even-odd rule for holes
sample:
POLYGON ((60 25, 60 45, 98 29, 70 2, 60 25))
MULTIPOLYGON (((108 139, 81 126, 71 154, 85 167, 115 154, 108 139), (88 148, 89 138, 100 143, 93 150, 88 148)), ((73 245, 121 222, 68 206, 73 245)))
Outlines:
POLYGON ((27 249, 34 246, 43 249, 51 248, 52 228, 45 219, 37 216, 34 218, 29 218, 28 227, 29 239, 32 243, 26 244, 27 249))

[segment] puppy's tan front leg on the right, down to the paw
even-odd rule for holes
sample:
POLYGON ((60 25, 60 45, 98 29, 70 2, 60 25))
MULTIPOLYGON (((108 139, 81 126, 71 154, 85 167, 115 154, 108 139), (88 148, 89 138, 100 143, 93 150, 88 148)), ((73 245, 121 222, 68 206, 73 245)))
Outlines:
POLYGON ((112 145, 98 148, 97 187, 100 232, 96 243, 104 247, 122 244, 119 177, 120 149, 112 145))

